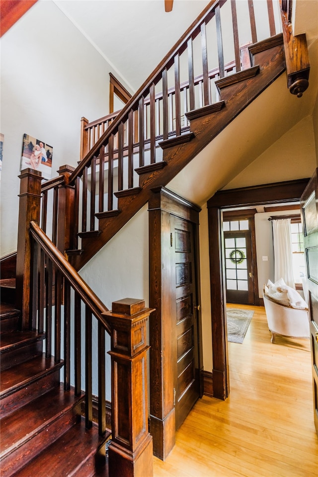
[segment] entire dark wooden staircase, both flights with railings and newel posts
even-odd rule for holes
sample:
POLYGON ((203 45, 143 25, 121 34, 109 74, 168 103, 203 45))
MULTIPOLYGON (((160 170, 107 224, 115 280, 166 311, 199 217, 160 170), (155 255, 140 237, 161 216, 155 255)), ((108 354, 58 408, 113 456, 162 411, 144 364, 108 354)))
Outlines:
MULTIPOLYGON (((267 2, 268 5, 270 3, 267 2)), ((128 381, 123 388, 122 382, 116 382, 116 373, 112 374, 114 402, 109 475, 152 475, 152 440, 148 433, 145 394, 147 384, 143 381, 147 372, 140 366, 140 376, 131 373, 138 353, 143 366, 146 366, 148 349, 146 339, 142 343, 137 341, 136 347, 133 347, 131 330, 134 327, 135 339, 138 339, 136 329, 142 329, 140 335, 146 337, 145 320, 151 310, 140 303, 136 308, 128 301, 124 305, 117 304, 116 313, 108 312, 80 280, 76 270, 87 263, 149 201, 153 191, 168 184, 285 71, 283 35, 276 34, 272 28, 274 19, 270 7, 271 37, 257 41, 255 18, 251 17, 253 42, 248 46, 250 65, 241 70, 234 1, 231 2, 234 66, 231 63, 231 68, 227 70, 221 48, 218 51, 218 68, 208 69, 206 26, 215 18, 217 30, 221 32, 220 8, 224 4, 226 1, 220 0, 206 7, 106 130, 102 120, 94 122, 98 134, 94 134, 93 142, 86 141, 89 150, 82 155, 83 159, 75 170, 67 166, 61 168, 59 177, 47 181, 42 190, 41 176, 37 171, 27 169, 21 173, 21 239, 18 237, 17 274, 15 277, 10 272, 1 277, 1 299, 4 303, 0 312, 0 465, 3 477, 108 476, 105 443, 110 431, 105 429, 105 331, 113 333, 110 351, 113 369, 117 369, 120 363, 120 378, 127 377, 128 381), (199 34, 203 71, 195 77, 193 44, 199 34), (188 80, 181 81, 179 61, 185 51, 188 54, 189 75, 188 80), (172 86, 168 85, 171 68, 172 86), (230 71, 232 74, 226 76, 226 72, 230 71), (216 93, 212 93, 212 83, 216 93), (160 92, 156 90, 158 84, 162 87, 160 92), (199 101, 197 96, 200 96, 199 101), (158 121, 160 116, 161 122, 158 121), (53 198, 50 199, 52 190, 53 198), (52 223, 48 222, 48 217, 53 218, 52 223), (41 227, 37 225, 39 223, 41 227), (47 230, 52 231, 52 241, 46 235, 47 230), (74 293, 74 360, 78 360, 74 388, 70 385, 71 289, 74 293), (13 303, 18 304, 19 310, 14 308, 13 303), (85 308, 82 318, 85 322, 83 347, 88 362, 87 366, 85 363, 85 393, 81 391, 79 364, 81 304, 85 308), (53 305, 55 328, 52 331, 53 305), (60 359, 62 306, 65 312, 64 361, 60 359), (92 340, 88 339, 92 315, 98 322, 98 426, 92 412, 92 340), (116 341, 117 331, 119 344, 116 341), (127 347, 126 339, 130 343, 127 347), (141 348, 136 352, 138 346, 141 348), (61 385, 60 379, 62 369, 64 385, 61 385), (136 383, 140 386, 137 398, 134 396, 136 383), (129 399, 128 392, 131 393, 129 399), (141 407, 146 409, 144 415, 141 415, 141 407), (130 414, 127 416, 132 409, 140 422, 130 414), (139 432, 133 429, 134 425, 139 432), (137 474, 134 473, 134 466, 138 469, 137 474)))

